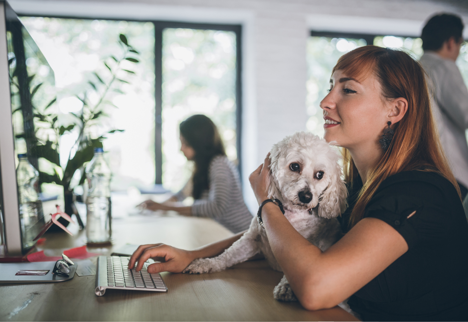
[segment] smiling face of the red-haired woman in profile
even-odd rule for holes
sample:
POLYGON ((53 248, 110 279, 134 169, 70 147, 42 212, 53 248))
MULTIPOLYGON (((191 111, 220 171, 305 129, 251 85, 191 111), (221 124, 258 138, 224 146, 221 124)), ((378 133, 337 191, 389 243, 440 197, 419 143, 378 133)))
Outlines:
POLYGON ((379 145, 387 126, 388 108, 380 83, 373 75, 355 80, 342 70, 331 76, 330 91, 320 102, 325 119, 325 140, 348 149, 379 145))

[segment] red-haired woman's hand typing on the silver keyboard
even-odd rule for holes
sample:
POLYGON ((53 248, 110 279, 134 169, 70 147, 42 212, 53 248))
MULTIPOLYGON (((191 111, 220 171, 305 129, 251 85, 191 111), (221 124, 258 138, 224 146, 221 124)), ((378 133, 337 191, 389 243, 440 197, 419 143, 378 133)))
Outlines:
POLYGON ((180 273, 184 268, 195 259, 193 252, 189 250, 178 249, 165 244, 147 244, 141 245, 133 253, 128 263, 128 269, 132 269, 137 264, 137 271, 140 271, 143 264, 149 259, 154 258, 162 263, 153 263, 148 266, 148 273, 160 273, 169 271, 180 273))

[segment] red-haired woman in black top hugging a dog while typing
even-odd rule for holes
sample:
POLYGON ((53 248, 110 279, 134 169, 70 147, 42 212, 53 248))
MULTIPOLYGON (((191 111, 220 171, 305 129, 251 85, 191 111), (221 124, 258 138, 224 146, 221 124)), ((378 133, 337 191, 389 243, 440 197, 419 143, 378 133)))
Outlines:
MULTIPOLYGON (((302 237, 280 211, 261 211, 271 250, 309 310, 348 300, 364 321, 467 321, 468 222, 442 152, 421 66, 403 51, 364 46, 334 67, 320 107, 325 139, 344 149, 348 209, 344 236, 326 251, 302 237)), ((267 197, 269 157, 251 175, 267 197)), ((129 267, 181 272, 240 238, 186 251, 140 246, 129 267)))

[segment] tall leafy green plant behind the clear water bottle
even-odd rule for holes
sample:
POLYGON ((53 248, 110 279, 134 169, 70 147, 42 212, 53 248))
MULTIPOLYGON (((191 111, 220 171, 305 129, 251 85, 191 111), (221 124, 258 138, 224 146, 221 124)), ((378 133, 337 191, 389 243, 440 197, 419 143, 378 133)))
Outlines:
MULTIPOLYGON (((124 130, 104 129, 102 120, 108 117, 106 108, 116 107, 112 102, 107 100, 110 92, 117 92, 124 94, 122 85, 130 83, 127 79, 118 76, 124 71, 127 75, 135 74, 129 69, 124 69, 122 63, 124 61, 138 63, 136 59, 139 52, 136 51, 130 44, 127 38, 120 34, 119 44, 121 44, 122 53, 119 57, 114 55, 104 59, 102 64, 108 71, 107 74, 98 74, 93 72, 93 80, 88 81, 89 89, 81 94, 75 95, 83 104, 82 109, 78 112, 70 112, 73 116, 73 121, 69 124, 59 124, 59 117, 54 113, 39 113, 36 112, 37 117, 42 124, 43 128, 48 128, 53 131, 55 135, 50 136, 55 139, 50 139, 40 142, 37 141, 35 148, 37 149, 38 157, 42 157, 49 161, 52 165, 52 171, 40 171, 41 183, 56 183, 63 186, 64 199, 65 199, 65 212, 69 215, 73 214, 73 185, 81 185, 85 180, 84 164, 91 161, 94 155, 95 147, 102 147, 102 140, 106 139, 108 133, 123 132, 124 130), (94 92, 94 103, 88 98, 90 91, 94 92), (77 138, 71 148, 66 165, 60 164, 59 142, 60 137, 66 133, 74 133, 77 138), (98 134, 96 134, 98 133, 98 134), (79 180, 73 180, 73 177, 79 175, 79 180), (74 182, 74 184, 73 184, 74 182)), ((54 102, 51 102, 45 109, 47 110, 54 102)), ((59 221, 64 225, 68 225, 68 221, 59 218, 59 221)), ((57 230, 57 226, 53 225, 50 230, 57 230)))

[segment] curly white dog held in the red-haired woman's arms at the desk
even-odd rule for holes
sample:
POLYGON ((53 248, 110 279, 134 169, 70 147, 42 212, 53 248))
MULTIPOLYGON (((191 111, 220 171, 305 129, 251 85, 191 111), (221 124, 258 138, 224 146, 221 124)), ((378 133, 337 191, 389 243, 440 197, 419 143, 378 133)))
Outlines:
MULTIPOLYGON (((336 216, 346 209, 347 190, 341 179, 339 158, 324 139, 307 132, 286 137, 273 146, 270 154, 268 198, 279 199, 292 226, 322 250, 340 238, 336 216)), ((265 256, 274 270, 283 271, 271 251, 265 230, 254 218, 249 230, 224 253, 196 259, 183 272, 222 271, 257 254, 265 256)), ((273 294, 277 300, 297 300, 285 276, 273 294)))

